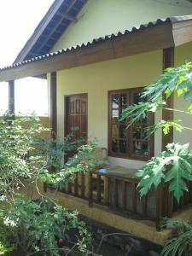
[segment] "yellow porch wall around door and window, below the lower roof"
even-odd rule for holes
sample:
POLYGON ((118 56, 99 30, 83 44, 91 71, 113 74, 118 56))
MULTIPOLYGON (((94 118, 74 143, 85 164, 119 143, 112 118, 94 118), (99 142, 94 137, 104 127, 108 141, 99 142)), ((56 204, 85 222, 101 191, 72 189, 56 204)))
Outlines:
MULTIPOLYGON (((162 72, 162 51, 103 61, 57 73, 57 129, 64 136, 64 96, 88 94, 88 139, 97 137, 99 146, 108 148, 108 90, 142 87, 162 72), (146 65, 148 60, 148 65, 146 65)), ((157 113, 156 120, 161 119, 157 113)), ((155 140, 155 154, 160 152, 161 133, 155 140)), ((142 161, 109 158, 112 165, 141 167, 142 161)))

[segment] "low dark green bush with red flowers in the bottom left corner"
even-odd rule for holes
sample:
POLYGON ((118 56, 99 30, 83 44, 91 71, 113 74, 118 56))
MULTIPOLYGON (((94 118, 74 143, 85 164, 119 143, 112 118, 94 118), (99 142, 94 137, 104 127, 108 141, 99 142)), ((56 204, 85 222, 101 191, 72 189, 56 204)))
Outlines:
POLYGON ((60 243, 64 246, 74 240, 84 252, 91 241, 78 212, 68 212, 57 205, 51 207, 49 201, 35 203, 19 196, 2 214, 4 225, 15 228, 15 241, 25 255, 39 252, 38 255, 57 256, 60 243))

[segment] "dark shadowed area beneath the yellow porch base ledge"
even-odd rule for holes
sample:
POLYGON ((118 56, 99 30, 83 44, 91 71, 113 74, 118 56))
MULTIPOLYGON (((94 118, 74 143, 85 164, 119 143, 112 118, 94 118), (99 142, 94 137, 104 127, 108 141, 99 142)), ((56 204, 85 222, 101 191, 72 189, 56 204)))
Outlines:
POLYGON ((113 229, 88 218, 87 224, 94 242, 93 251, 102 256, 154 256, 160 255, 162 247, 137 236, 113 229))

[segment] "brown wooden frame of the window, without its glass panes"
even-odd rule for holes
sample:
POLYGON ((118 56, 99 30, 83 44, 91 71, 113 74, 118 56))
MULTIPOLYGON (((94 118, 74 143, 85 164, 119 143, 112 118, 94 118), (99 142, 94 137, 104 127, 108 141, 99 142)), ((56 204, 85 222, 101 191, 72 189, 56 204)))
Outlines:
MULTIPOLYGON (((143 87, 137 88, 130 88, 130 89, 120 89, 120 90, 109 90, 108 91, 108 156, 123 158, 123 159, 130 159, 130 160, 149 160, 151 157, 154 156, 154 134, 150 136, 148 140, 149 147, 150 147, 150 154, 148 156, 139 156, 136 154, 132 154, 133 148, 133 137, 132 137, 132 125, 127 129, 126 132, 126 143, 127 143, 127 153, 115 153, 112 151, 112 96, 113 95, 121 95, 126 94, 127 100, 126 104, 133 103, 133 95, 137 92, 142 92, 143 87), (128 143, 129 142, 129 143, 128 143)), ((154 124, 154 113, 150 114, 150 125, 154 124)))

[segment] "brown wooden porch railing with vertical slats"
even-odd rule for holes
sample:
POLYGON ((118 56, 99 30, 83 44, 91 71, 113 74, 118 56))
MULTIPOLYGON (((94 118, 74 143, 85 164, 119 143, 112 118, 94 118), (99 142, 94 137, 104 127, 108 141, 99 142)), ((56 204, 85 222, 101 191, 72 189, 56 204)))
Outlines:
POLYGON ((161 218, 172 218, 173 213, 189 207, 192 203, 192 182, 189 182, 189 193, 185 192, 183 200, 177 204, 169 193, 167 185, 152 189, 140 199, 136 178, 125 178, 101 172, 79 172, 73 183, 68 183, 61 192, 82 198, 108 207, 129 218, 150 219, 160 230, 161 218))

